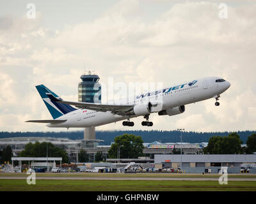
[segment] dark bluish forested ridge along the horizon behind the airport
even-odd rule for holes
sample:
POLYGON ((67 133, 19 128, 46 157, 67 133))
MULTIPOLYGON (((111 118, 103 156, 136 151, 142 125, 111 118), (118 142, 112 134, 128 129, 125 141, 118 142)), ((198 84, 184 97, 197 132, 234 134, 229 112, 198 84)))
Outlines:
MULTIPOLYGON (((110 145, 114 138, 124 133, 140 135, 144 142, 180 142, 179 131, 97 131, 96 138, 104 140, 100 145, 110 145)), ((256 131, 238 131, 237 134, 243 143, 246 142, 247 137, 256 133, 256 131)), ((182 142, 200 143, 208 142, 209 138, 214 135, 227 136, 229 132, 212 132, 212 133, 197 133, 197 132, 184 132, 182 133, 182 142)), ((83 139, 83 131, 70 131, 70 132, 0 132, 0 138, 12 137, 52 137, 52 138, 68 138, 71 140, 83 139)))

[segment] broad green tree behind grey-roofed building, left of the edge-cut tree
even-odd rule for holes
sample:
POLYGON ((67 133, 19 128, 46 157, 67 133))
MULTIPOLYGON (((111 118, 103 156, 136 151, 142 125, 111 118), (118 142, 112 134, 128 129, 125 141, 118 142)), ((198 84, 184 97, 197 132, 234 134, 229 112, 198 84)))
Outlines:
POLYGON ((212 136, 207 147, 204 148, 205 154, 241 154, 241 140, 237 133, 230 133, 228 136, 212 136))

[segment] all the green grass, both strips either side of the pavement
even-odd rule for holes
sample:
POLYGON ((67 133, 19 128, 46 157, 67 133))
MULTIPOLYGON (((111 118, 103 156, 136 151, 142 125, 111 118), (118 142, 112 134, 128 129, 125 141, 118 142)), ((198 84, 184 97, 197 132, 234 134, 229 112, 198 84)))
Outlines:
POLYGON ((218 178, 218 174, 178 173, 36 173, 36 177, 57 177, 57 180, 36 179, 35 185, 26 183, 26 173, 0 173, 0 191, 256 191, 256 175, 228 175, 228 178, 253 178, 253 181, 229 180, 220 185, 216 180, 143 180, 143 178, 218 178), (4 179, 13 177, 13 179, 4 179), (24 177, 24 179, 15 179, 24 177), (63 177, 102 177, 105 180, 58 180, 63 177), (109 180, 106 180, 109 177, 109 180), (111 177, 141 178, 141 180, 111 180, 111 177), (3 178, 3 179, 1 179, 3 178))

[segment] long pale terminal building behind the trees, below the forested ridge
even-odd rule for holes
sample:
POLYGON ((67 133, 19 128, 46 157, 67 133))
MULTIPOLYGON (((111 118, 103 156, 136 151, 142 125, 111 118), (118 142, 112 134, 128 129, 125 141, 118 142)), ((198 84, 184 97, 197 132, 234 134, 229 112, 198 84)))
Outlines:
MULTIPOLYGON (((0 139, 0 150, 10 145, 15 156, 18 156, 19 152, 25 149, 26 144, 29 142, 51 142, 52 144, 61 147, 66 150, 68 158, 72 162, 78 162, 77 154, 81 149, 85 150, 89 154, 90 162, 95 159, 95 154, 97 152, 102 152, 104 158, 108 159, 108 150, 111 145, 100 145, 103 140, 93 140, 93 142, 88 142, 88 140, 70 140, 67 138, 49 138, 49 137, 17 137, 17 138, 1 138, 0 139)), ((143 143, 144 156, 148 156, 154 159, 154 154, 177 154, 182 148, 183 154, 202 154, 204 147, 207 143, 143 143)))

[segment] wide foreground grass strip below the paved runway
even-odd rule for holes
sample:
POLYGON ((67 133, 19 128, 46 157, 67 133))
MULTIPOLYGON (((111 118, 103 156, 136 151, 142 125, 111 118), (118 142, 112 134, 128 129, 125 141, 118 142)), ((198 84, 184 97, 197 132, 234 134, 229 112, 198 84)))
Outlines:
POLYGON ((188 180, 0 180, 0 191, 256 191, 255 181, 188 180))

